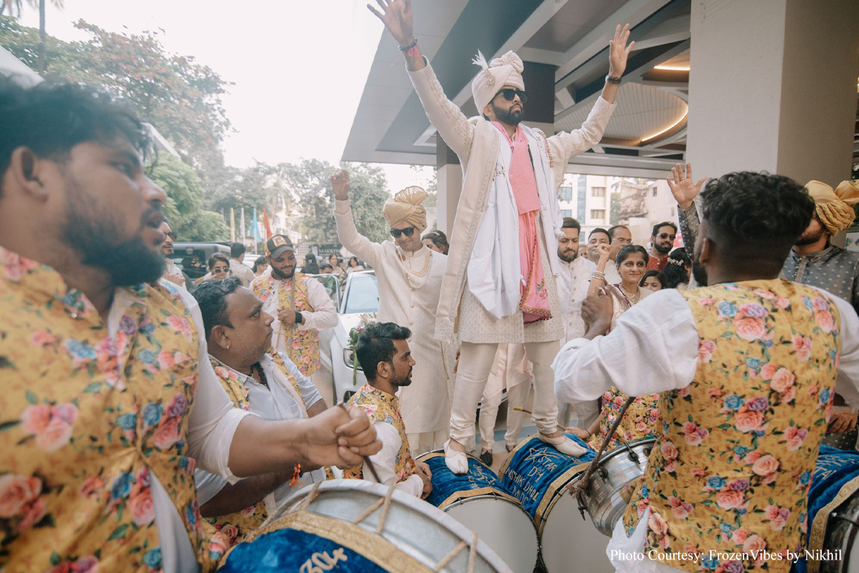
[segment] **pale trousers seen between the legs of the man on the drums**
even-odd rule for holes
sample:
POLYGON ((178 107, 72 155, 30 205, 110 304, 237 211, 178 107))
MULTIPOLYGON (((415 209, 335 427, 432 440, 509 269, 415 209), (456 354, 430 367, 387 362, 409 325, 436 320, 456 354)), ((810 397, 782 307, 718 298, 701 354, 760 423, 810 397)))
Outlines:
POLYGON ((515 411, 524 408, 531 392, 531 366, 525 357, 525 344, 498 344, 495 365, 490 371, 484 387, 483 405, 480 406, 480 445, 492 451, 495 446, 495 423, 498 406, 501 405, 503 389, 507 388, 507 432, 504 442, 514 447, 519 442, 522 419, 525 413, 515 411))

